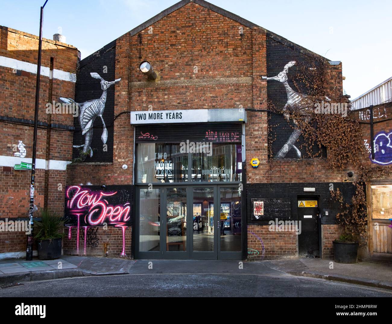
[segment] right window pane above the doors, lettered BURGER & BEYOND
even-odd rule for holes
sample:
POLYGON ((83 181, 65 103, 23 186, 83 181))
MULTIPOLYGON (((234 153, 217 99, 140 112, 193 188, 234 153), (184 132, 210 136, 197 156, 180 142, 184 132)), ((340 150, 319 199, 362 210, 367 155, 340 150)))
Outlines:
POLYGON ((209 152, 192 153, 192 181, 241 181, 240 144, 215 144, 209 152))

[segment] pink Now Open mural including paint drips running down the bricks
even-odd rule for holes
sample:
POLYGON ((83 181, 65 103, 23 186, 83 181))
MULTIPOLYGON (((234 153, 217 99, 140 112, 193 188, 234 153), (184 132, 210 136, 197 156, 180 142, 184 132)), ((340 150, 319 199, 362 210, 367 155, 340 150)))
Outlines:
POLYGON ((67 186, 65 189, 65 217, 67 218, 68 239, 76 230, 76 249, 79 253, 80 239, 84 241, 84 254, 87 246, 95 248, 99 241, 95 226, 114 226, 122 231, 125 255, 125 230, 131 226, 131 186, 67 186))

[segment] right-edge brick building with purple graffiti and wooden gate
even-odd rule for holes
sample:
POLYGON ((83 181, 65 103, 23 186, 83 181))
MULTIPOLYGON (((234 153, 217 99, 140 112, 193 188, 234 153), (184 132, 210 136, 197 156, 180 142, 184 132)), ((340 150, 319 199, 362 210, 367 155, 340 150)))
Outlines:
POLYGON ((370 166, 372 171, 378 168, 385 172, 381 175, 379 172, 372 172, 366 186, 368 214, 368 251, 366 252, 368 258, 381 261, 392 261, 390 173, 392 151, 389 138, 392 131, 392 102, 391 89, 388 87, 385 87, 386 91, 382 89, 388 82, 390 83, 390 80, 391 78, 358 97, 354 102, 354 108, 357 109, 350 112, 350 117, 358 120, 361 125, 363 165, 370 166), (371 143, 374 144, 373 152, 371 143))

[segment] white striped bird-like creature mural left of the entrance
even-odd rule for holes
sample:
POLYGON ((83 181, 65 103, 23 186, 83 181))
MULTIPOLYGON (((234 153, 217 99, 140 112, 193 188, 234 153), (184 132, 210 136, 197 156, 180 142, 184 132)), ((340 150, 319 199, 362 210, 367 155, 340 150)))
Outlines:
POLYGON ((79 124, 82 129, 82 135, 84 135, 84 144, 83 145, 73 145, 75 148, 83 147, 83 153, 88 153, 90 157, 93 156, 93 150, 91 149, 91 140, 93 139, 93 124, 95 118, 101 118, 103 125, 103 132, 101 136, 101 140, 103 144, 107 141, 107 129, 105 125, 105 121, 102 118, 103 110, 105 110, 105 102, 107 96, 107 89, 113 85, 121 81, 120 79, 116 79, 114 81, 108 82, 101 78, 101 76, 96 72, 91 72, 90 75, 93 78, 101 80, 101 89, 103 90, 101 98, 93 99, 89 101, 85 101, 82 103, 76 103, 71 98, 63 98, 60 97, 60 100, 64 103, 68 104, 76 104, 79 107, 79 124))

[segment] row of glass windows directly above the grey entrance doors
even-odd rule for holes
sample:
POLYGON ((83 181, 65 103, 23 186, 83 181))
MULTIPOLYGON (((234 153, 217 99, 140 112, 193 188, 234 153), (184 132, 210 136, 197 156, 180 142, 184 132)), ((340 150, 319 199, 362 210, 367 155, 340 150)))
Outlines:
POLYGON ((181 143, 138 143, 137 183, 189 181, 188 156, 192 159, 192 182, 241 181, 241 144, 202 144, 192 152, 184 150, 181 143))

